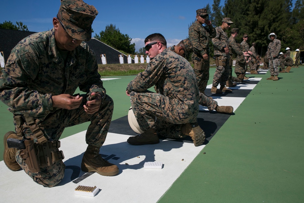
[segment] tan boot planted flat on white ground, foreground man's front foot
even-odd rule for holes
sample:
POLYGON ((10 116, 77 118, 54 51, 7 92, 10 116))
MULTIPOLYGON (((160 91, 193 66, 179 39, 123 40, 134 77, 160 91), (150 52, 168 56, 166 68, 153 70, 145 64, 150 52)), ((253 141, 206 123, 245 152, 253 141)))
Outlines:
POLYGON ((99 154, 100 147, 88 145, 82 157, 81 170, 85 172, 96 172, 102 176, 115 176, 119 169, 115 164, 102 159, 99 154))

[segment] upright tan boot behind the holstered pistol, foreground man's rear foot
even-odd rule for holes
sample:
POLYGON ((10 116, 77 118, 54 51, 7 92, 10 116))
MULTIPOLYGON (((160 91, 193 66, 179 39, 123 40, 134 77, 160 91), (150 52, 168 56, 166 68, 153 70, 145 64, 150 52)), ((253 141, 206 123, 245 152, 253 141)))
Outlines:
POLYGON ((6 140, 9 138, 19 139, 14 131, 9 131, 4 135, 3 144, 4 144, 4 152, 3 152, 3 161, 5 165, 12 171, 17 171, 20 169, 19 164, 16 161, 16 152, 17 148, 9 148, 6 140))

